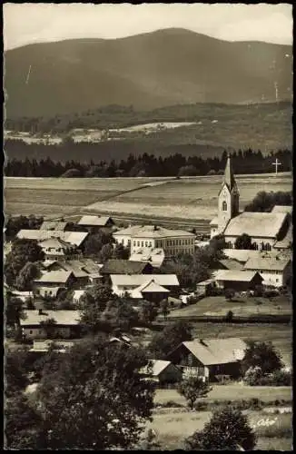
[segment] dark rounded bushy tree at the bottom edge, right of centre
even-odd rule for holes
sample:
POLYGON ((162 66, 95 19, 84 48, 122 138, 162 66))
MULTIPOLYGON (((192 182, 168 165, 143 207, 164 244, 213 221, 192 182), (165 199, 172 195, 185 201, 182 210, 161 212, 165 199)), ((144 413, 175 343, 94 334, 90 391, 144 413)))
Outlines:
POLYGON ((226 406, 214 411, 202 431, 193 433, 185 443, 190 450, 252 450, 256 435, 242 411, 226 406))

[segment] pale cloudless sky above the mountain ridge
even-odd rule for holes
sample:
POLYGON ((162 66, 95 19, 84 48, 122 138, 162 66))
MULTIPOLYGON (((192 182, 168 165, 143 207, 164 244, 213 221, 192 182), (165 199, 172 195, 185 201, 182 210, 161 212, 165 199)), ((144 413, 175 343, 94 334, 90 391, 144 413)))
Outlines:
POLYGON ((290 4, 4 5, 5 50, 74 38, 114 39, 186 28, 227 41, 292 44, 290 4))

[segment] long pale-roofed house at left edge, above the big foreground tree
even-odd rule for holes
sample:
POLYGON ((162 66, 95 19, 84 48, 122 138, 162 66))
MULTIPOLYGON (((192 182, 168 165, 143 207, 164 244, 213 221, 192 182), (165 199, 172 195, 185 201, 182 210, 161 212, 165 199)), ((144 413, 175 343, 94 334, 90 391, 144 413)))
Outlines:
POLYGON ((24 340, 75 339, 80 336, 79 311, 25 311, 20 320, 24 340), (54 320, 55 323, 46 323, 54 320))

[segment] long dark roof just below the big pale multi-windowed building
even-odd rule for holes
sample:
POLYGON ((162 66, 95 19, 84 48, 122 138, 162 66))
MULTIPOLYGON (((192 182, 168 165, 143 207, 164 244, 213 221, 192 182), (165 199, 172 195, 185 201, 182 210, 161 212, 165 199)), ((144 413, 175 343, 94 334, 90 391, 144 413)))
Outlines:
POLYGON ((101 274, 151 274, 153 266, 147 262, 131 262, 129 260, 110 259, 104 263, 101 274))

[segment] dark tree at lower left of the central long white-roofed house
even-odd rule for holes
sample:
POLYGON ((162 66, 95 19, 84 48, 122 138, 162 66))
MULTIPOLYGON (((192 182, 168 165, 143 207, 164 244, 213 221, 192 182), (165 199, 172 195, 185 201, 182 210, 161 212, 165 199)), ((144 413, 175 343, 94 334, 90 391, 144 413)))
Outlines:
POLYGON ((103 284, 95 285, 85 291, 78 303, 80 321, 87 331, 97 332, 102 329, 102 314, 106 309, 107 302, 115 298, 112 289, 103 284))

